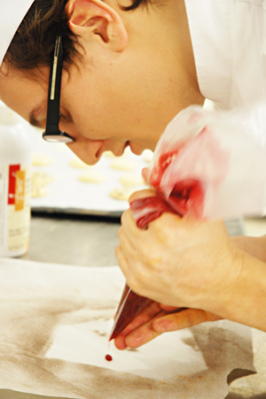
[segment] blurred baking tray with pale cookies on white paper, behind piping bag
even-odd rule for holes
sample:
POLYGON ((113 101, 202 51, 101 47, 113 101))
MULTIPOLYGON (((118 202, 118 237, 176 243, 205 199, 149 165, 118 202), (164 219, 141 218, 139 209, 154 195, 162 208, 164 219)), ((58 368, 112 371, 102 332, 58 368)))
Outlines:
MULTIPOLYGON (((79 165, 72 163, 79 160, 63 143, 44 142, 42 134, 33 129, 31 134, 33 166, 32 173, 42 173, 51 181, 40 184, 39 195, 31 198, 33 212, 71 213, 98 215, 117 218, 129 208, 126 199, 114 199, 110 196, 113 190, 120 190, 126 195, 145 188, 144 182, 125 184, 121 179, 141 179, 141 170, 149 165, 152 151, 145 151, 136 156, 127 149, 122 157, 113 157, 104 153, 97 165, 79 165), (36 165, 39 163, 40 165, 36 165), (113 163, 120 163, 120 168, 113 168, 113 163), (128 169, 127 169, 128 168, 128 169), (105 180, 100 182, 83 182, 79 177, 84 173, 101 174, 105 180)), ((33 179, 33 181, 35 181, 33 179)), ((39 183, 38 183, 39 184, 39 183)), ((33 183, 35 191, 35 182, 33 183)))

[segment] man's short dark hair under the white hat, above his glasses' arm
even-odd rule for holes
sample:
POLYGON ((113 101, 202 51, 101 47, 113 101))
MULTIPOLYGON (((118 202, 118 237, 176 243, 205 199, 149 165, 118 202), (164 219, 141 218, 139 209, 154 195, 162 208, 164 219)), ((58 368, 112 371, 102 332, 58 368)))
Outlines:
MULTIPOLYGON (((135 10, 150 0, 133 0, 124 11, 135 10)), ((74 62, 80 53, 77 37, 68 27, 66 13, 68 0, 35 0, 14 35, 4 60, 16 69, 33 70, 50 65, 51 54, 58 35, 63 38, 64 68, 74 62)))

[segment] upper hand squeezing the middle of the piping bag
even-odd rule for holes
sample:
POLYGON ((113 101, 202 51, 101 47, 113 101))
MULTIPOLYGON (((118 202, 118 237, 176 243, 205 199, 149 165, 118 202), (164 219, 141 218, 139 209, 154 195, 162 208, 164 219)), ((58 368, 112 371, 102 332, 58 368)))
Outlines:
MULTIPOLYGON (((130 201, 154 196, 135 193, 130 201)), ((222 221, 199 221, 164 213, 147 230, 131 211, 121 218, 116 257, 129 287, 168 306, 202 309, 223 317, 241 269, 241 257, 222 221)))

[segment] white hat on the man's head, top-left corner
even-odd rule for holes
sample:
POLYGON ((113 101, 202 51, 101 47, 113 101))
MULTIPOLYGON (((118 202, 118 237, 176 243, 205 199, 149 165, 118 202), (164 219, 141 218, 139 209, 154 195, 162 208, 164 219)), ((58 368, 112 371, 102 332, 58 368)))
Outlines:
POLYGON ((22 19, 33 3, 34 0, 0 0, 0 65, 22 19))

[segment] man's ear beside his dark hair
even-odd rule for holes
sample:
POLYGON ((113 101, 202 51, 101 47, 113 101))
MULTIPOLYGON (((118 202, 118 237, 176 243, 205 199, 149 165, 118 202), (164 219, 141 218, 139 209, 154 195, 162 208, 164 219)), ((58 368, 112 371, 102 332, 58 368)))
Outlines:
POLYGON ((74 35, 97 41, 114 51, 122 51, 128 33, 120 15, 101 0, 69 0, 66 12, 71 15, 69 28, 74 35))

